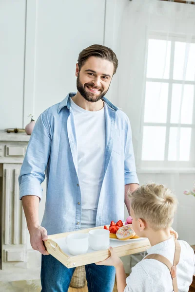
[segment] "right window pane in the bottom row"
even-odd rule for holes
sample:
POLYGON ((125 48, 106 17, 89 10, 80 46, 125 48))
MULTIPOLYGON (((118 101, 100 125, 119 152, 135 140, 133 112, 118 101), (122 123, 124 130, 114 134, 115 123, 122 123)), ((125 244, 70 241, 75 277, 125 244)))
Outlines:
POLYGON ((191 131, 192 128, 170 128, 168 152, 169 161, 190 160, 191 131))

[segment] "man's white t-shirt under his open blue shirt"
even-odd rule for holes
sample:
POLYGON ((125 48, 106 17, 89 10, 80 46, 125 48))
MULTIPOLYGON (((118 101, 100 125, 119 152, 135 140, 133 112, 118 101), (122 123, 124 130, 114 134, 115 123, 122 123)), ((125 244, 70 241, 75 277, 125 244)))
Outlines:
POLYGON ((105 112, 80 108, 71 98, 77 149, 78 181, 81 191, 81 228, 95 227, 104 172, 105 112))

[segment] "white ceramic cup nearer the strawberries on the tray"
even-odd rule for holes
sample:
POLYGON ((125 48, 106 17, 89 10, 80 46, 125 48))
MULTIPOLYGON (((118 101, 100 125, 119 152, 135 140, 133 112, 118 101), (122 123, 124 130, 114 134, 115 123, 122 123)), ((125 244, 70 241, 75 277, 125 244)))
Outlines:
POLYGON ((110 244, 110 231, 106 229, 95 229, 89 231, 89 246, 95 250, 108 249, 110 244))

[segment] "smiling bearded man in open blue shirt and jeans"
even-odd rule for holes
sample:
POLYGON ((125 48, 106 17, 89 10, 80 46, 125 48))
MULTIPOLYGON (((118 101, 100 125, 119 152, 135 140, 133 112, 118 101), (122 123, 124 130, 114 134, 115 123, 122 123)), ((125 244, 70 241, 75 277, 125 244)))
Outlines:
MULTIPOLYGON (((76 65, 78 92, 45 110, 29 141, 19 178, 20 199, 31 245, 42 254, 42 292, 68 291, 75 270, 48 255, 43 245, 47 232, 123 220, 127 191, 138 187, 129 119, 104 97, 117 65, 110 48, 84 49, 76 65), (47 195, 40 226, 44 172, 47 195)), ((114 267, 91 264, 85 269, 90 292, 113 291, 114 267)))

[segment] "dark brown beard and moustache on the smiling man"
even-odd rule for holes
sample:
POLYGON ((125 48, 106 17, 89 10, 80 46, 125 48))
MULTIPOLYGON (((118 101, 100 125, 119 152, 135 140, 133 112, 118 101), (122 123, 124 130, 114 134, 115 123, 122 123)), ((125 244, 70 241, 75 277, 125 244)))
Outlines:
POLYGON ((77 77, 77 90, 78 92, 82 95, 82 97, 84 97, 85 100, 89 101, 89 102, 97 102, 98 100, 100 100, 105 94, 106 92, 109 90, 109 87, 106 91, 104 91, 103 87, 98 87, 98 86, 94 86, 93 83, 85 83, 84 85, 82 85, 82 83, 80 82, 80 78, 79 78, 79 73, 78 73, 78 77, 77 77), (94 89, 98 89, 99 94, 98 93, 93 93, 93 92, 89 92, 86 87, 93 87, 94 89))

